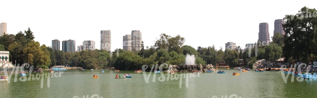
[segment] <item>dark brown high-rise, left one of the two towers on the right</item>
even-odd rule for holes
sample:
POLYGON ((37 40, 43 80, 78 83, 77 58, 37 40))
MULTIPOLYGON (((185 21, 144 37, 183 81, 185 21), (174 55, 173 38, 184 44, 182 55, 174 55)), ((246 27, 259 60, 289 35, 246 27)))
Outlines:
POLYGON ((258 41, 266 41, 269 44, 270 41, 270 33, 269 33, 269 24, 264 22, 259 24, 259 32, 258 32, 258 41))

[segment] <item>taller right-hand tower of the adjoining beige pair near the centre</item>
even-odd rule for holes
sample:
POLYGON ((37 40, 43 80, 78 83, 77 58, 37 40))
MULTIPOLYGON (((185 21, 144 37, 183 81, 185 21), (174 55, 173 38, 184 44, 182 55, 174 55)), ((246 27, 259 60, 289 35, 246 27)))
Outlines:
POLYGON ((139 30, 133 30, 131 32, 131 50, 140 51, 142 44, 142 33, 139 30))

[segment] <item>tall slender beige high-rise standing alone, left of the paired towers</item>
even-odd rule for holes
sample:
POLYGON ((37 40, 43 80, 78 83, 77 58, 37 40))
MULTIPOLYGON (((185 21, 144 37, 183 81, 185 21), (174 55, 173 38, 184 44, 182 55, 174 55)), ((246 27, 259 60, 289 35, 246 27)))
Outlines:
POLYGON ((111 31, 110 30, 100 31, 100 49, 111 51, 111 31))

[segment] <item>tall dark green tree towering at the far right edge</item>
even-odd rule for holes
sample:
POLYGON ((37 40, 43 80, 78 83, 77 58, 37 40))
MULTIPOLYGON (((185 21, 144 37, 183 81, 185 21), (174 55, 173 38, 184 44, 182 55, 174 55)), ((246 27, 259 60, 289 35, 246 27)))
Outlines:
POLYGON ((293 15, 286 15, 284 20, 286 21, 282 26, 284 27, 284 47, 283 54, 285 56, 285 61, 289 59, 294 59, 295 61, 308 62, 312 50, 316 50, 316 39, 317 18, 312 17, 312 13, 315 13, 316 9, 309 9, 306 6, 301 8, 297 13, 297 18, 293 15), (308 10, 307 10, 308 9, 308 10), (304 15, 309 15, 304 16, 304 15))

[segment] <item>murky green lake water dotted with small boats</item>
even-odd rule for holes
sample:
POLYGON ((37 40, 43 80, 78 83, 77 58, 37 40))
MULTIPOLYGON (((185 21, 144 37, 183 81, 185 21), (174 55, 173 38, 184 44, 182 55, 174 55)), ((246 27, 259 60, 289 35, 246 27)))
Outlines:
MULTIPOLYGON (((143 72, 104 70, 105 72, 101 73, 102 70, 82 71, 79 69, 55 71, 55 73, 63 73, 57 78, 49 78, 49 80, 43 78, 42 88, 41 78, 20 81, 21 76, 18 75, 15 82, 15 75, 12 75, 10 83, 0 81, 0 98, 76 98, 76 96, 86 98, 87 95, 89 98, 93 95, 103 98, 212 98, 213 96, 229 98, 231 95, 241 98, 316 98, 317 96, 315 93, 317 80, 298 81, 297 77, 294 77, 292 82, 292 74, 290 74, 285 83, 282 74, 277 71, 219 70, 225 70, 226 73, 200 73, 196 78, 187 78, 187 80, 182 78, 181 88, 179 78, 159 81, 161 74, 156 74, 155 82, 153 82, 153 72, 146 83, 143 72), (233 76, 233 72, 238 72, 240 75, 233 76), (123 76, 129 73, 133 78, 114 78, 117 74, 123 76), (94 74, 97 74, 99 78, 92 78, 94 74)), ((36 74, 38 73, 32 73, 32 75, 36 74)), ((48 72, 41 74, 48 74, 48 72)), ((186 73, 174 75, 181 74, 186 73)), ((146 72, 147 75, 149 72, 146 72)), ((4 73, 0 73, 0 76, 4 76, 4 73)), ((29 75, 26 77, 29 79, 29 75)))

